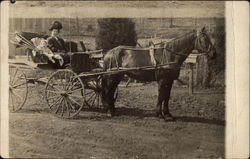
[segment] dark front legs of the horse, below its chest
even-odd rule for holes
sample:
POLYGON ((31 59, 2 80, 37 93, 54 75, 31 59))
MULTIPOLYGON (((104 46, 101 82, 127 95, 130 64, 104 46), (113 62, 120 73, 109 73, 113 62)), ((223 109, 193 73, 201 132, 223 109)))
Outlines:
POLYGON ((158 96, 158 115, 161 115, 165 121, 174 120, 173 116, 169 112, 168 101, 173 85, 173 79, 163 79, 158 82, 159 96, 158 96))

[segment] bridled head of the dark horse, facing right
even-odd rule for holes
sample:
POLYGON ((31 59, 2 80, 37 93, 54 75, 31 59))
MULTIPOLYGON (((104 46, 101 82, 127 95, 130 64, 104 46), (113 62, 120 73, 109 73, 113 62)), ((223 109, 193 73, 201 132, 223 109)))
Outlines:
POLYGON ((216 58, 216 49, 207 35, 205 27, 197 29, 197 38, 195 40, 194 49, 200 53, 206 53, 209 58, 216 58))

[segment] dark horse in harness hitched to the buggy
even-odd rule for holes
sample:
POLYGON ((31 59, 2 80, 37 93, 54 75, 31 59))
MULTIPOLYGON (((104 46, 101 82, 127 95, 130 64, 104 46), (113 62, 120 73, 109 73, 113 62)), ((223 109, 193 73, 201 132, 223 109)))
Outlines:
POLYGON ((117 71, 106 74, 102 78, 102 104, 109 116, 114 116, 115 90, 127 75, 136 80, 158 83, 158 99, 156 104, 156 115, 164 118, 165 121, 173 121, 168 107, 168 101, 172 89, 173 81, 178 79, 180 68, 185 59, 193 51, 205 53, 210 59, 216 57, 216 49, 208 36, 205 27, 192 30, 191 32, 176 38, 170 42, 165 42, 160 47, 152 49, 137 49, 135 47, 118 46, 109 50, 103 59, 104 70, 123 68, 134 68, 144 66, 156 66, 173 63, 171 69, 154 69, 139 71, 117 71))

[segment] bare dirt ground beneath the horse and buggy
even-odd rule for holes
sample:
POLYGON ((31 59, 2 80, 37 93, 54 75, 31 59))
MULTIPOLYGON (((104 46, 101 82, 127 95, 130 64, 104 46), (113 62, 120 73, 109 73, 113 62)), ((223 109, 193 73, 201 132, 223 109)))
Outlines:
POLYGON ((216 89, 188 96, 187 88, 174 87, 170 111, 177 120, 165 122, 153 111, 156 83, 119 87, 116 117, 94 109, 71 120, 49 113, 34 88, 23 109, 10 113, 10 157, 224 158, 224 94, 216 89))

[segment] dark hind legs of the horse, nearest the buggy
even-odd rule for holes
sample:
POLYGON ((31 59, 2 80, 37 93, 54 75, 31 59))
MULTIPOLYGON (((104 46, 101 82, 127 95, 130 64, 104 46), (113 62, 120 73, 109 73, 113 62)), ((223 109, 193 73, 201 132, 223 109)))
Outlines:
POLYGON ((115 98, 114 93, 118 84, 123 78, 123 74, 107 75, 102 79, 102 104, 108 115, 115 115, 115 98))

